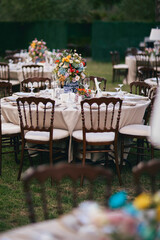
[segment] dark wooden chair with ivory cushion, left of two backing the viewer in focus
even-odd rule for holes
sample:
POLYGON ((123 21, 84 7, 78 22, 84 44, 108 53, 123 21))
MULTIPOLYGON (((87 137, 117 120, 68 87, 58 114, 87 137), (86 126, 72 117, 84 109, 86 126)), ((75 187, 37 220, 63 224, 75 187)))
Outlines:
POLYGON ((21 126, 22 153, 18 173, 20 180, 24 150, 49 153, 50 165, 53 164, 53 142, 67 142, 69 132, 53 127, 55 101, 49 98, 24 97, 17 99, 21 126), (26 144, 27 143, 27 144, 26 144), (32 144, 32 145, 31 145, 32 144))

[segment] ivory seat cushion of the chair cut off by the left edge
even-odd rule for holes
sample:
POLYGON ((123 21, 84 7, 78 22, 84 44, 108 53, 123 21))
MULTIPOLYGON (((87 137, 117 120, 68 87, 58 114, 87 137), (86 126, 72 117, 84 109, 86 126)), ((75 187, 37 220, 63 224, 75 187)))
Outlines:
POLYGON ((20 126, 13 123, 2 123, 2 135, 17 134, 21 132, 20 126))

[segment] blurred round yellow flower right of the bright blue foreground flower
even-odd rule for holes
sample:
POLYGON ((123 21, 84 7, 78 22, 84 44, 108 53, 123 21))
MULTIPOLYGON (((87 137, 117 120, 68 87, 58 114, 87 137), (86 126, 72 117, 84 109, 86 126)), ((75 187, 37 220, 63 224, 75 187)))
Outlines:
POLYGON ((133 204, 137 209, 149 208, 152 204, 151 195, 147 193, 141 193, 138 197, 135 198, 133 204))

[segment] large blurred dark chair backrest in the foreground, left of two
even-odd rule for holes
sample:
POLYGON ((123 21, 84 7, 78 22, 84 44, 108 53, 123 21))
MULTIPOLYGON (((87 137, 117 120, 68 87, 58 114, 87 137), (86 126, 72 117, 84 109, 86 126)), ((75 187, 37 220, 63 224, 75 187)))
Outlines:
MULTIPOLYGON (((36 222, 36 214, 35 214, 35 207, 33 203, 33 190, 31 190, 30 186, 33 180, 37 180, 38 183, 41 186, 41 190, 39 191, 41 194, 41 200, 42 200, 42 212, 43 212, 43 218, 48 219, 49 214, 52 215, 54 213, 55 205, 57 205, 57 212, 58 214, 63 213, 63 207, 62 207, 62 197, 64 196, 65 199, 67 198, 67 195, 69 197, 69 202, 72 205, 72 207, 76 207, 80 198, 83 198, 82 192, 85 195, 87 195, 87 200, 93 200, 93 193, 94 193, 94 180, 96 180, 98 177, 104 177, 106 184, 105 184, 105 190, 103 192, 103 195, 105 195, 105 204, 108 203, 108 198, 111 195, 111 182, 113 179, 113 175, 109 169, 105 169, 102 167, 93 167, 89 165, 79 165, 79 164, 57 164, 52 166, 39 166, 37 169, 30 168, 26 171, 26 173, 23 175, 23 185, 24 185, 24 191, 26 194, 26 202, 28 205, 29 210, 29 219, 31 222, 36 222), (79 180, 81 179, 82 175, 86 180, 86 184, 84 184, 83 188, 80 186, 79 180), (53 186, 51 186, 51 190, 55 190, 55 193, 46 193, 45 189, 45 183, 47 179, 52 179, 53 186), (66 178, 69 178, 70 181, 66 178), (62 180, 64 180, 62 182, 62 180), (62 184, 61 184, 62 183, 62 184), (72 184, 71 184, 72 183, 72 184), (89 183, 89 184, 88 184, 89 183), (87 189, 85 188, 87 187, 87 189), (54 189, 53 189, 54 188, 54 189), (69 194, 70 193, 70 194, 69 194), (49 196, 52 196, 52 200, 47 201, 49 196), (80 197, 80 198, 79 198, 80 197), (57 200, 57 204, 54 203, 54 200, 57 200), (51 206, 48 206, 50 203, 51 206), (50 210, 48 210, 50 209, 50 210)), ((98 180, 98 179, 97 179, 98 180)), ((35 182, 35 181, 34 181, 35 182)), ((49 186, 47 187, 49 189, 49 186)), ((84 199, 83 199, 84 200, 84 199)), ((37 205, 37 200, 36 200, 37 205)))

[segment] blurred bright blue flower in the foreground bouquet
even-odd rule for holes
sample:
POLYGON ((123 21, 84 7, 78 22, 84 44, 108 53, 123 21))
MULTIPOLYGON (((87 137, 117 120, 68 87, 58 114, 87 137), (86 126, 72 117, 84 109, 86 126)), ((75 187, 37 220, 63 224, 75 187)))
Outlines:
POLYGON ((125 191, 120 191, 115 193, 109 198, 108 204, 110 208, 120 208, 126 204, 127 193, 125 191))

